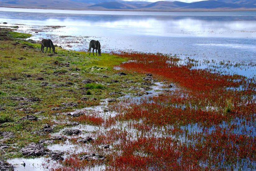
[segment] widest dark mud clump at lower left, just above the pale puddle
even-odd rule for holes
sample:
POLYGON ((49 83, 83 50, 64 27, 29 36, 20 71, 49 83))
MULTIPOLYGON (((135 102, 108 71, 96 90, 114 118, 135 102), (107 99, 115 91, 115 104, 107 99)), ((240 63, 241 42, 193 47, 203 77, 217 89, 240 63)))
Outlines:
POLYGON ((42 156, 47 154, 48 150, 44 148, 43 145, 32 142, 29 145, 22 148, 21 152, 22 152, 22 155, 27 155, 27 156, 42 156))

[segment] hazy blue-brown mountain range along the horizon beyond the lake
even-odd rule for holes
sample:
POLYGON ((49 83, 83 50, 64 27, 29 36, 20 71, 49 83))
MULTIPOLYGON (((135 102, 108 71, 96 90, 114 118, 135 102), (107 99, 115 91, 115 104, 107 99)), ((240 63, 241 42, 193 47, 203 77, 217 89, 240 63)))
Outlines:
POLYGON ((0 0, 0 7, 129 11, 256 10, 256 0, 208 0, 191 3, 122 0, 0 0))

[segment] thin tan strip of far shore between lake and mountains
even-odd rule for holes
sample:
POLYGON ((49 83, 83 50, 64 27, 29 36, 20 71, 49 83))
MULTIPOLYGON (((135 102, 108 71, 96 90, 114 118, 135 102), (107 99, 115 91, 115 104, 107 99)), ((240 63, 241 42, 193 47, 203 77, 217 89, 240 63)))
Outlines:
POLYGON ((232 8, 232 9, 224 9, 224 8, 214 8, 214 9, 206 9, 206 8, 195 8, 195 9, 168 9, 168 10, 159 10, 159 9, 92 9, 92 8, 39 8, 39 7, 6 7, 0 6, 4 8, 23 8, 23 9, 48 9, 48 10, 75 10, 75 11, 141 11, 141 12, 218 12, 218 11, 256 11, 256 8, 232 8))

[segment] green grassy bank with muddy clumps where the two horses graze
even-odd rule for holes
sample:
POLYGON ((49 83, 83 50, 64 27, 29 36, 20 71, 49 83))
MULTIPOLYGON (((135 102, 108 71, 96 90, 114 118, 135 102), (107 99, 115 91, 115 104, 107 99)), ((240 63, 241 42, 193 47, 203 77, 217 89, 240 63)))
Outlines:
MULTIPOLYGON (((10 29, 0 29, 0 34, 0 133, 14 133, 14 137, 1 140, 9 148, 1 150, 0 158, 21 157, 19 150, 26 144, 47 138, 48 133, 35 132, 41 131, 45 124, 55 124, 53 119, 58 118, 53 114, 95 106, 103 99, 124 93, 136 93, 138 90, 129 87, 143 78, 135 72, 122 76, 113 70, 114 65, 126 58, 106 53, 89 56, 60 47, 55 48, 56 54, 49 50, 43 54, 40 43, 25 40, 30 34, 10 29), (37 119, 23 120, 26 115, 37 119)), ((69 125, 58 124, 53 132, 66 126, 69 125)))

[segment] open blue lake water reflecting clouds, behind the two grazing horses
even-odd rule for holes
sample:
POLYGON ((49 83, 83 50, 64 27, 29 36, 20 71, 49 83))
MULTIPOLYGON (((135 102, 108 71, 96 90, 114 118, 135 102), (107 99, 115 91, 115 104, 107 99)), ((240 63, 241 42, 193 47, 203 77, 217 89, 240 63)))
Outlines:
MULTIPOLYGON (((34 40, 50 38, 54 44, 71 50, 87 51, 89 41, 97 39, 102 52, 160 52, 197 60, 256 61, 256 11, 132 12, 0 8, 0 25, 18 25, 19 31, 33 34, 31 38, 34 40)), ((249 75, 255 74, 254 71, 249 75)))

